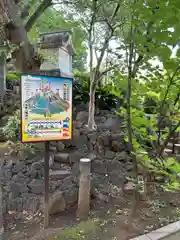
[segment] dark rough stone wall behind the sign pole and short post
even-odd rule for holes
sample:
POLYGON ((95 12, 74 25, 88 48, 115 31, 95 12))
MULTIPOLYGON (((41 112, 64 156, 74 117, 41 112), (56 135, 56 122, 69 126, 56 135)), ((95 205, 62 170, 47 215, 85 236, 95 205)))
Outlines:
MULTIPOLYGON (((65 208, 77 203, 79 160, 92 160, 92 196, 100 200, 121 196, 132 162, 123 141, 122 119, 109 111, 96 110, 97 131, 86 127, 87 106, 74 108, 73 139, 51 143, 50 193, 61 192, 65 208)), ((36 144, 37 147, 37 144, 36 144)), ((43 149, 43 144, 39 144, 43 149)), ((4 212, 27 210, 35 213, 44 192, 43 157, 1 159, 0 179, 4 189, 4 212)), ((52 211, 53 212, 53 211, 52 211)))

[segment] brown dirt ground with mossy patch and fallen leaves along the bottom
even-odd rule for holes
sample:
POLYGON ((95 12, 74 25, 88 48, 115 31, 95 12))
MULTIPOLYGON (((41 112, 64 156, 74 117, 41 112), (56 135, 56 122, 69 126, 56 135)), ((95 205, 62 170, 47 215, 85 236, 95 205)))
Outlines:
MULTIPOLYGON (((104 203, 92 201, 90 217, 76 219, 76 206, 51 217, 49 229, 43 229, 43 215, 11 213, 5 217, 5 237, 8 240, 128 240, 180 219, 180 193, 158 192, 137 206, 132 219, 132 195, 123 201, 104 203)), ((5 239, 6 239, 5 238, 5 239)))

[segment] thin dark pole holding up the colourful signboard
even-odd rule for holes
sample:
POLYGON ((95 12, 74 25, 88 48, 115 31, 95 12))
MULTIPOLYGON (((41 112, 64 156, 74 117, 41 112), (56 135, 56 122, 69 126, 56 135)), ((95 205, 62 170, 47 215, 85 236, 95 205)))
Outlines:
POLYGON ((44 153, 44 228, 49 226, 49 142, 45 142, 44 153))

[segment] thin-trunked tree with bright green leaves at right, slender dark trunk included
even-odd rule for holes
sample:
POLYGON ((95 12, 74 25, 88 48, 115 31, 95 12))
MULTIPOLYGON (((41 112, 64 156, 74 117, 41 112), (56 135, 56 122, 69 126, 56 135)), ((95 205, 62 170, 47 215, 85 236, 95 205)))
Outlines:
MULTIPOLYGON (((179 84, 177 82, 179 76, 179 56, 177 55, 176 60, 173 59, 171 57, 171 49, 179 42, 177 31, 179 27, 177 24, 180 15, 179 10, 177 10, 179 9, 177 1, 170 3, 164 0, 157 3, 153 0, 146 2, 130 0, 124 1, 124 7, 129 14, 127 15, 128 28, 123 36, 122 33, 119 34, 121 39, 119 48, 121 51, 124 51, 124 56, 126 56, 126 61, 124 62, 125 71, 123 73, 127 79, 127 108, 122 112, 126 113, 124 116, 127 122, 127 140, 133 159, 134 180, 138 183, 139 163, 146 165, 151 171, 154 171, 152 170, 153 167, 156 166, 157 170, 160 167, 157 163, 162 162, 162 159, 168 162, 168 159, 163 156, 164 149, 170 137, 180 126, 179 120, 173 119, 173 125, 170 121, 170 124, 166 126, 166 136, 160 137, 160 141, 158 141, 159 136, 147 135, 146 128, 143 127, 150 124, 148 126, 153 126, 154 132, 158 131, 157 124, 155 124, 156 116, 153 116, 153 120, 147 121, 142 109, 144 96, 153 92, 159 99, 159 115, 163 114, 167 100, 171 104, 171 109, 179 113, 178 106, 173 106, 179 92, 179 84), (168 17, 164 15, 164 12, 168 12, 168 17), (177 16, 176 19, 172 18, 174 14, 177 16), (159 59, 159 62, 166 70, 165 75, 160 74, 158 69, 150 64, 150 60, 152 61, 155 58, 159 59), (147 149, 144 148, 142 142, 138 141, 137 136, 141 140, 150 140, 153 155, 149 156, 147 154, 147 149)), ((165 172, 164 169, 163 171, 165 172)), ((137 203, 137 188, 134 193, 134 203, 137 203)), ((136 207, 133 205, 132 210, 135 209, 136 207)), ((134 211, 132 212, 134 213, 134 211)))

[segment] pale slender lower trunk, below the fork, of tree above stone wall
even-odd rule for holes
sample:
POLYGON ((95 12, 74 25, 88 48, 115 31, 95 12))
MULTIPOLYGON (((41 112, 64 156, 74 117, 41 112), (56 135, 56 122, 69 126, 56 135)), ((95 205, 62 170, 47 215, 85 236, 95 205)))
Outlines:
POLYGON ((89 94, 89 118, 88 118, 88 128, 90 130, 96 129, 96 124, 94 120, 95 114, 95 91, 94 81, 90 82, 90 94, 89 94))

